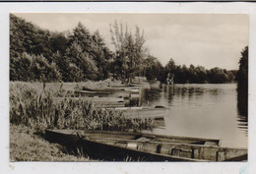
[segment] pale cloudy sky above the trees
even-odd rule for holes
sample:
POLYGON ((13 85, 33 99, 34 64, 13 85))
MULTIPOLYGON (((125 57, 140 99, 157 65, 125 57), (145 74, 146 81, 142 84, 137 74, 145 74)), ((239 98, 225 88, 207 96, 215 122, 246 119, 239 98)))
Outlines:
POLYGON ((241 14, 15 14, 51 31, 67 31, 81 22, 92 33, 99 30, 110 43, 109 25, 116 20, 130 29, 144 30, 145 46, 164 66, 170 58, 176 65, 220 67, 237 70, 240 52, 248 45, 249 18, 241 14))

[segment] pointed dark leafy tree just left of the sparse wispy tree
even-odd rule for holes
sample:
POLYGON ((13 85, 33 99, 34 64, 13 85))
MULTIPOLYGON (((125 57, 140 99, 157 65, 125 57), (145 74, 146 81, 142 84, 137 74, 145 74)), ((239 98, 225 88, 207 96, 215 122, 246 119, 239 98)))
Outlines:
POLYGON ((78 59, 79 57, 73 56, 74 60, 82 61, 82 66, 79 65, 79 62, 75 62, 75 65, 86 70, 83 70, 86 73, 86 78, 90 80, 106 79, 108 77, 108 59, 110 59, 111 53, 99 31, 96 30, 94 34, 91 34, 89 29, 79 23, 69 38, 69 48, 77 46, 73 50, 79 51, 80 56, 83 57, 78 59), (87 67, 83 67, 83 64, 87 64, 87 67))

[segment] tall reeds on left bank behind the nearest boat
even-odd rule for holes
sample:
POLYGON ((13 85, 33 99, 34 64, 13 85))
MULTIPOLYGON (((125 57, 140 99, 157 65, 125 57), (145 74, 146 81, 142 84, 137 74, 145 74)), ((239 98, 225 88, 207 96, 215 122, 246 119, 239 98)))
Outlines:
MULTIPOLYGON (((61 91, 61 95, 68 95, 61 91)), ((54 102, 56 91, 10 84, 10 122, 29 127, 111 131, 152 130, 154 119, 127 118, 121 111, 103 110, 89 99, 64 98, 54 102)))

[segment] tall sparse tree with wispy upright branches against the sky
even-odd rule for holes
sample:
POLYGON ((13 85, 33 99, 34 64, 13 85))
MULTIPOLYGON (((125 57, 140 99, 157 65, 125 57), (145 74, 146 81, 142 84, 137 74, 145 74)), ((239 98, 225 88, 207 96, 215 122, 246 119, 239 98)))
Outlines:
POLYGON ((115 48, 115 58, 113 63, 116 67, 116 72, 120 79, 130 84, 132 78, 136 75, 141 75, 143 72, 143 60, 145 59, 146 49, 144 43, 146 41, 144 32, 141 32, 139 27, 136 27, 135 34, 128 31, 127 25, 117 24, 110 25, 111 43, 115 48))

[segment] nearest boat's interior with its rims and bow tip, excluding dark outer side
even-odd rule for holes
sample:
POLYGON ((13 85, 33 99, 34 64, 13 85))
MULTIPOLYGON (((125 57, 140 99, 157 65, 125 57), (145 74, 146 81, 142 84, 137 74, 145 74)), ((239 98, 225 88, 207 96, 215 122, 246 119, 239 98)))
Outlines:
POLYGON ((56 131, 61 135, 77 135, 85 141, 160 155, 186 161, 241 161, 247 160, 247 149, 220 146, 219 140, 158 136, 150 134, 117 134, 101 131, 56 131))

